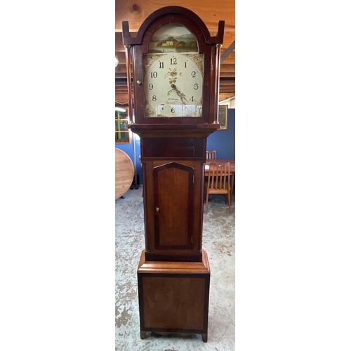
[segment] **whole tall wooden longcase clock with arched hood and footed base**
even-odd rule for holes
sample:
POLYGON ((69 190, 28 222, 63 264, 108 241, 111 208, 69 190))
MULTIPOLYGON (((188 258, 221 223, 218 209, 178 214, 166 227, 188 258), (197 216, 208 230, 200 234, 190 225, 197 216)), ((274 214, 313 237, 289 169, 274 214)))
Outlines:
POLYGON ((211 37, 192 11, 168 6, 132 37, 123 22, 130 128, 140 135, 145 250, 138 265, 140 336, 207 340, 210 269, 202 249, 206 138, 219 128, 224 21, 211 37))

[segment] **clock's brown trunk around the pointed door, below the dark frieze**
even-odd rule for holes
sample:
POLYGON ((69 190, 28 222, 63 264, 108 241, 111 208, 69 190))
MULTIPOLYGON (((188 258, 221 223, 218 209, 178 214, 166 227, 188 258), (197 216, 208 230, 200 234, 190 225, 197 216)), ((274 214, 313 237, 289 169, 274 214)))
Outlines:
POLYGON ((147 260, 201 260, 204 159, 141 160, 147 260), (160 180, 156 176, 158 169, 167 170, 160 180), (167 224, 168 220, 171 224, 167 224), (168 245, 162 245, 162 241, 168 245))

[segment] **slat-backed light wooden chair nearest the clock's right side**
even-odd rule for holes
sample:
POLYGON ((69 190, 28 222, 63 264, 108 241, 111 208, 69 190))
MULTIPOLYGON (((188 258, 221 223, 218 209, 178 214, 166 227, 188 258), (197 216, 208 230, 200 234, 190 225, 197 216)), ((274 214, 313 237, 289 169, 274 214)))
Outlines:
POLYGON ((227 196, 229 213, 232 213, 232 194, 230 187, 230 163, 210 164, 206 188, 206 212, 208 211, 208 195, 224 194, 227 196))

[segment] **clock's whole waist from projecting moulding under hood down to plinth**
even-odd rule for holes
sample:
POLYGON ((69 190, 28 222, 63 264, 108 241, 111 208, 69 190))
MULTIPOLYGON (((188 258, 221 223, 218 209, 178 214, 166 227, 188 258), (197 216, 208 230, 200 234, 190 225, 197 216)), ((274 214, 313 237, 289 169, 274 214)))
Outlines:
POLYGON ((170 125, 147 128, 146 125, 133 124, 131 127, 140 135, 146 259, 201 261, 206 136, 215 131, 216 126, 173 125, 173 130, 170 125), (167 138, 165 131, 168 132, 167 138), (160 178, 161 184, 155 178, 160 166, 169 171, 160 178), (192 169, 194 171, 183 173, 192 169), (157 213, 159 199, 167 206, 162 206, 157 213), (161 227, 160 216, 164 224, 161 227), (168 230, 167 218, 173 218, 173 223, 177 223, 177 220, 182 223, 176 225, 174 230, 168 230), (174 245, 162 245, 160 238, 168 244, 173 240, 166 239, 168 236, 180 236, 183 246, 180 241, 174 245))

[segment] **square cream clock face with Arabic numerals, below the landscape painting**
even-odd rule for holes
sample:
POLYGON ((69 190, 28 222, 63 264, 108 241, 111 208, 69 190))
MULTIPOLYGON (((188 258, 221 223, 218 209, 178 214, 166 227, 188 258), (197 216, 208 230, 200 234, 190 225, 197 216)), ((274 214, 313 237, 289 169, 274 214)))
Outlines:
POLYGON ((201 117, 203 67, 200 53, 144 54, 145 117, 201 117))

